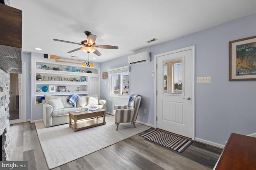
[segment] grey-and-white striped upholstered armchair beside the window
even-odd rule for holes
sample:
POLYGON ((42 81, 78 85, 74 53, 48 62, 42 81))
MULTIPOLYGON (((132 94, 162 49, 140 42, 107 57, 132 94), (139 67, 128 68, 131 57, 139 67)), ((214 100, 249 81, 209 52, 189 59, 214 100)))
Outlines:
POLYGON ((135 127, 135 121, 137 119, 139 107, 140 107, 141 96, 132 94, 129 98, 128 105, 115 105, 114 115, 116 130, 118 130, 119 123, 133 123, 135 127))

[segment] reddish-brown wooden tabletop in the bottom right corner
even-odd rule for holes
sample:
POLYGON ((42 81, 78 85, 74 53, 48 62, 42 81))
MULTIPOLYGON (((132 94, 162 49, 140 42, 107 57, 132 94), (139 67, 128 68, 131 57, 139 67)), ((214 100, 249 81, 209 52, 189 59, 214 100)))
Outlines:
POLYGON ((214 170, 256 170, 256 138, 231 133, 214 170))

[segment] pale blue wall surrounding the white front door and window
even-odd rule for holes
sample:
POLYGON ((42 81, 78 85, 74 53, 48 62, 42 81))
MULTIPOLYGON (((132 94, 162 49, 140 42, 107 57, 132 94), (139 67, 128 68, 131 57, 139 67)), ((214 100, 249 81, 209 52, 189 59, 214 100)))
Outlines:
MULTIPOLYGON (((150 51, 152 55, 150 63, 131 66, 130 93, 143 96, 138 121, 154 125, 154 55, 195 45, 195 76, 212 78, 211 83, 195 84, 195 137, 225 145, 232 132, 255 133, 256 81, 228 80, 229 41, 255 35, 256 14, 252 14, 129 54, 150 51)), ((128 65, 129 55, 101 63, 101 73, 128 65)), ((108 112, 114 105, 128 103, 127 98, 109 96, 108 79, 101 79, 100 88, 108 112)))

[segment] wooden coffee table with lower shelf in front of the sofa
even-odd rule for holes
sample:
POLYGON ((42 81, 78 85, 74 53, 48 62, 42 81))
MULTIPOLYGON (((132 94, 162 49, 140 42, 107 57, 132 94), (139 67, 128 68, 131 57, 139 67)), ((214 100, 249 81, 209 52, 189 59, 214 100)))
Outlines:
POLYGON ((99 109, 97 111, 69 111, 69 127, 71 127, 74 132, 80 131, 82 129, 87 129, 90 127, 105 125, 105 116, 106 116, 106 110, 99 109), (98 119, 99 116, 103 116, 103 121, 98 119), (95 119, 90 119, 95 118, 95 119), (71 119, 74 120, 74 122, 71 121, 71 119), (79 121, 82 119, 86 119, 83 121, 79 121))

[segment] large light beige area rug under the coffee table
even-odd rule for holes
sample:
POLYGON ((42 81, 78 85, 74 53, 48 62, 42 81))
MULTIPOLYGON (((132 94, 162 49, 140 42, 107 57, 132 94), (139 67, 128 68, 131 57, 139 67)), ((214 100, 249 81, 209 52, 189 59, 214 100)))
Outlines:
MULTIPOLYGON (((100 117, 99 119, 103 119, 100 117)), ((46 162, 50 169, 103 149, 150 127, 136 123, 120 123, 118 131, 114 116, 106 116, 106 125, 74 132, 68 124, 37 129, 46 162)))

